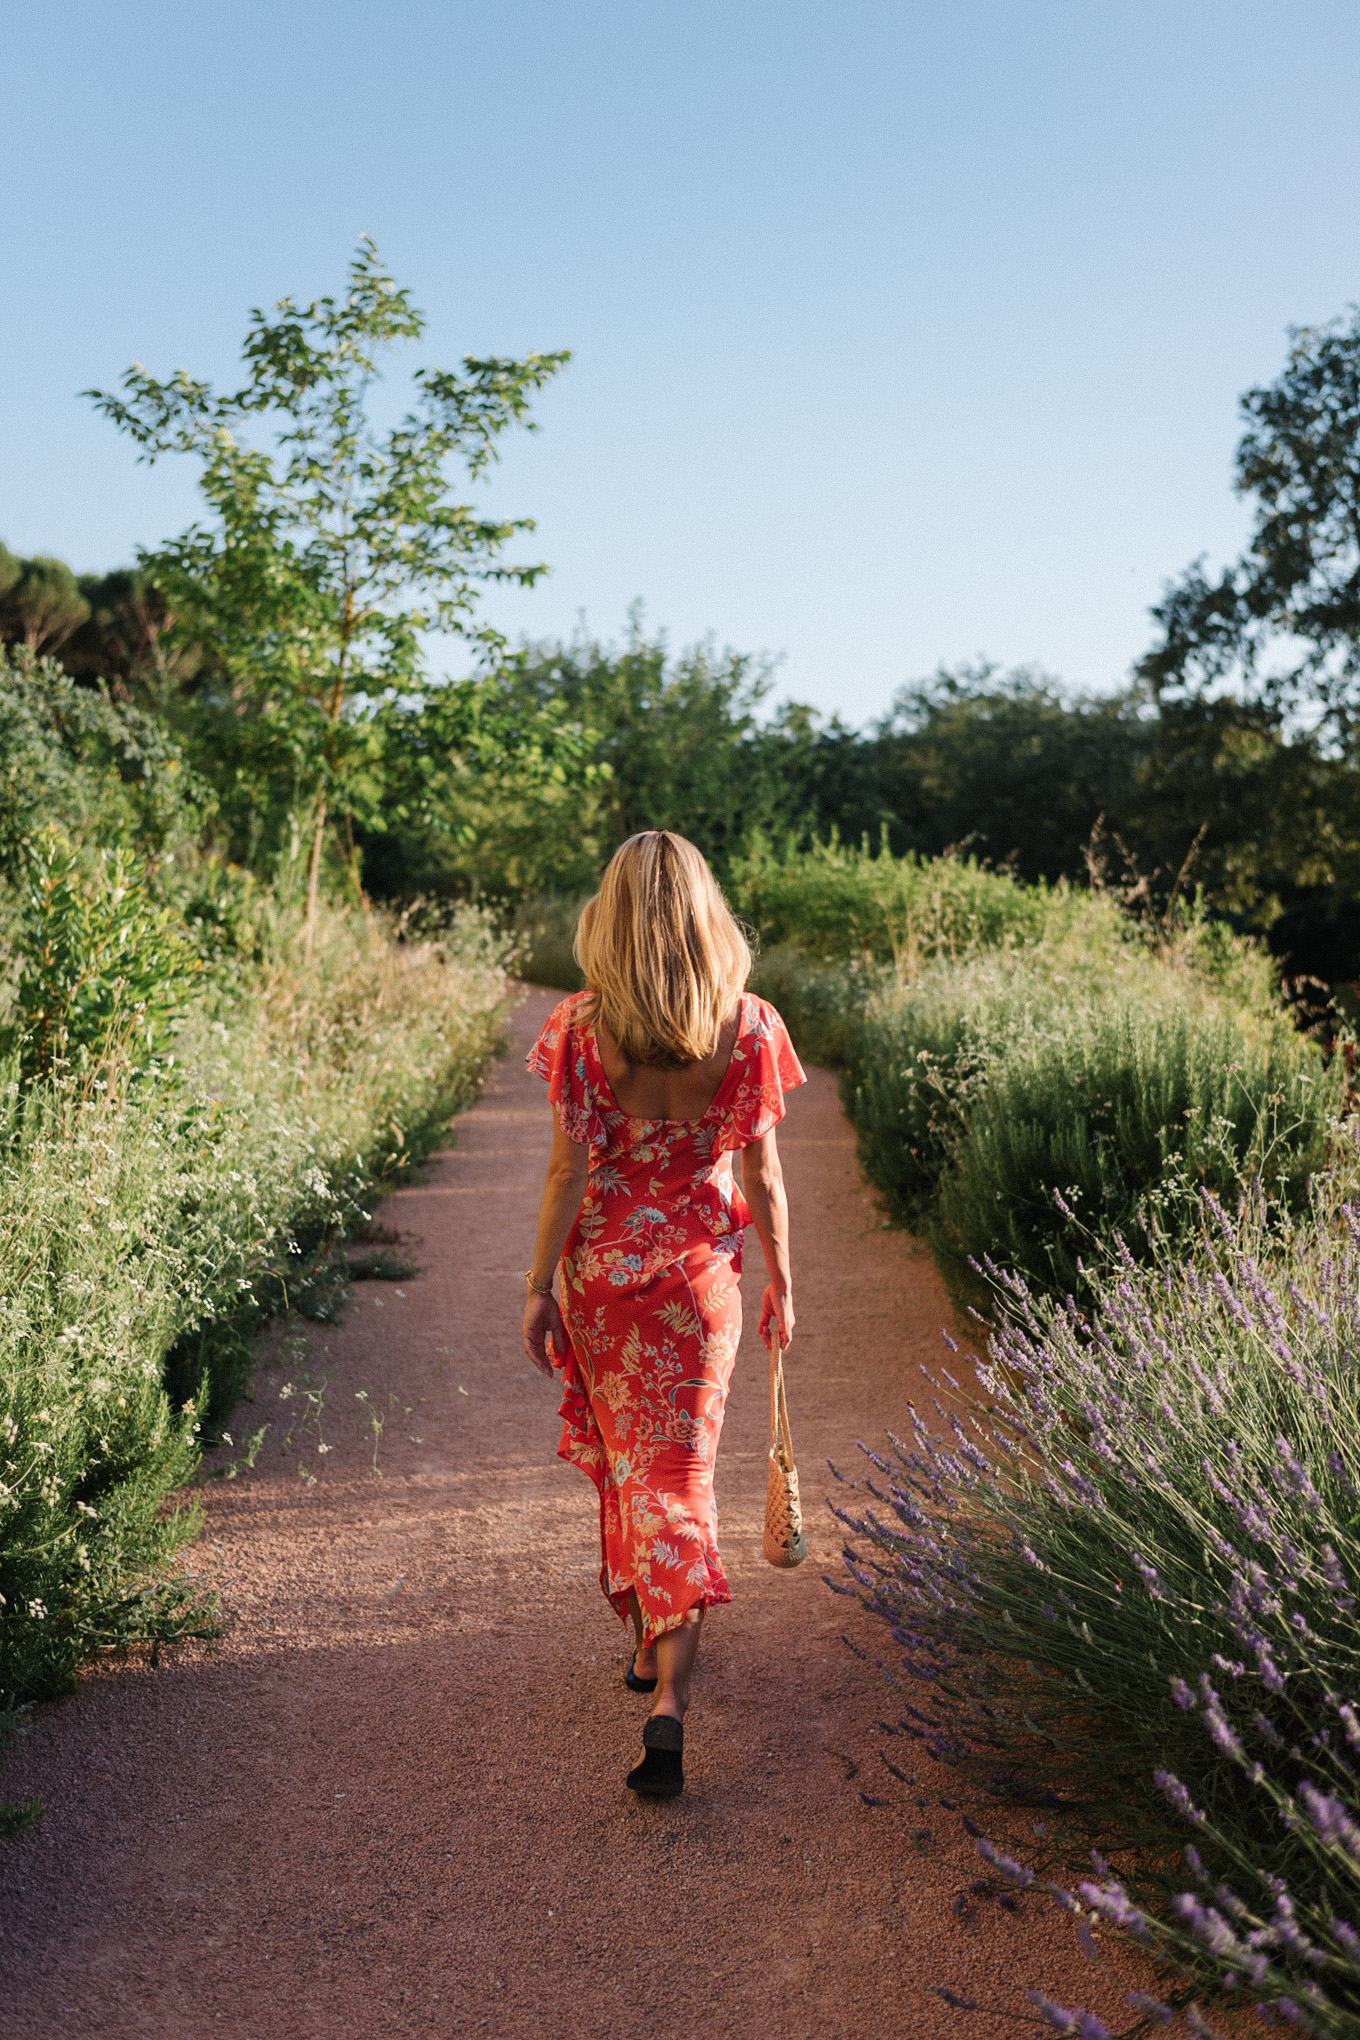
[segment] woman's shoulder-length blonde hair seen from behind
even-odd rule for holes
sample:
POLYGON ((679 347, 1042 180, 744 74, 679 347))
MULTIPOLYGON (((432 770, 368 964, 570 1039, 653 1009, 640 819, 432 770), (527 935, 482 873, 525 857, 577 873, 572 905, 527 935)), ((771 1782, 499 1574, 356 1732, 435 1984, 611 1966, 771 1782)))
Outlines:
POLYGON ((679 1069, 712 1055, 750 973, 703 855, 669 828, 646 828, 610 859, 581 908, 573 945, 604 1020, 630 1063, 679 1069))

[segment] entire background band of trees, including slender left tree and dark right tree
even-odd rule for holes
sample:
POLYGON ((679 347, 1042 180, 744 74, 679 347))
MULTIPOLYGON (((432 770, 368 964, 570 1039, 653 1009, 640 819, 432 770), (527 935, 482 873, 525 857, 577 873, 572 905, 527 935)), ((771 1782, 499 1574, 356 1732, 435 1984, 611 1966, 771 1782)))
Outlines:
MULTIPOLYGON (((391 290, 365 245, 345 316, 385 339, 396 304, 400 330, 418 333, 391 290)), ((387 900, 571 894, 646 826, 691 836, 718 871, 756 832, 775 847, 966 845, 1024 879, 1083 879, 1095 861, 1152 908, 1201 887, 1287 975, 1360 977, 1360 312, 1295 330, 1278 379, 1244 394, 1250 543, 1217 579, 1193 563, 1168 583, 1132 683, 1073 696, 981 663, 903 687, 865 730, 797 704, 769 714, 759 659, 712 645, 671 657, 636 616, 622 647, 510 653, 471 628, 473 579, 542 569, 495 565, 524 522, 465 506, 432 518, 430 473, 457 449, 477 473, 561 355, 469 359, 465 379, 422 371, 424 437, 396 435, 373 469, 365 455, 351 477, 373 496, 363 530, 332 530, 316 475, 357 459, 326 437, 316 396, 353 373, 330 330, 341 310, 290 300, 279 314, 253 314, 245 394, 208 402, 130 369, 130 396, 98 398, 143 457, 198 453, 220 530, 106 575, 0 547, 0 636, 161 718, 216 845, 271 883, 287 889, 302 863, 312 900, 322 881, 387 900), (279 381, 265 369, 292 361, 300 318, 324 347, 304 381, 279 381), (296 412, 290 445, 326 457, 275 473, 218 430, 269 406, 296 412), (400 608, 412 577, 442 594, 400 608), (434 626, 471 636, 475 679, 428 675, 434 626)))

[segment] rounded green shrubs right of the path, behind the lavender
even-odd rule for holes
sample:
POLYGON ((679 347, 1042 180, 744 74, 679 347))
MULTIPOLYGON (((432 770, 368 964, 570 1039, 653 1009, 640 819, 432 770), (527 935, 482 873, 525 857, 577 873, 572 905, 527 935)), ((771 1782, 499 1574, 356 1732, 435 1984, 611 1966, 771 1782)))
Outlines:
POLYGON ((1081 1289, 1083 1248, 1146 1244, 1140 1212, 1176 1234, 1197 1185, 1254 1175, 1297 1208, 1327 1157, 1342 1071, 1201 902, 1140 924, 1107 894, 838 845, 756 845, 738 898, 781 938, 752 987, 840 1067, 865 1173, 958 1295, 987 1293, 987 1257, 1081 1289))

